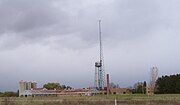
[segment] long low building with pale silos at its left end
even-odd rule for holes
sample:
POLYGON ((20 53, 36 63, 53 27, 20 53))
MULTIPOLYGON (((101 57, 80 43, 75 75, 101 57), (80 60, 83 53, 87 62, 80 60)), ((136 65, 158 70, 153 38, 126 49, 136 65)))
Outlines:
POLYGON ((36 82, 19 81, 19 96, 37 97, 37 96, 91 96, 95 94, 90 88, 87 89, 64 89, 47 90, 46 88, 37 88, 36 82))

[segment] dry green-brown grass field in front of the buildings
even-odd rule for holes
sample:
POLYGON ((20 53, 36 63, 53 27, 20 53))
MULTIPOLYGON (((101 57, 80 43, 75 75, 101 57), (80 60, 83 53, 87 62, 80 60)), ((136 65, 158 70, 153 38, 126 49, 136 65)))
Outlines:
POLYGON ((0 98, 0 105, 180 105, 180 94, 0 98))

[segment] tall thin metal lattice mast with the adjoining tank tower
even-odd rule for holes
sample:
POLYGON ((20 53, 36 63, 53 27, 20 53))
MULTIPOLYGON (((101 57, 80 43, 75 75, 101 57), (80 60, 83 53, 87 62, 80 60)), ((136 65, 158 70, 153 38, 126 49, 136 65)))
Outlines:
POLYGON ((99 20, 99 47, 100 47, 100 58, 99 61, 95 62, 94 85, 96 89, 103 90, 105 87, 105 70, 104 70, 104 58, 103 58, 103 48, 102 48, 102 36, 101 36, 101 20, 99 20))

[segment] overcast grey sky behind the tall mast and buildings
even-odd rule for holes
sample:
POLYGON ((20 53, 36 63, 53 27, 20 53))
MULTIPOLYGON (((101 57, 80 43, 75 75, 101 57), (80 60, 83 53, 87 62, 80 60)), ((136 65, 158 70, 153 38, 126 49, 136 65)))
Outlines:
POLYGON ((180 0, 0 0, 0 91, 18 81, 93 85, 102 20, 105 70, 120 87, 180 72, 180 0))

